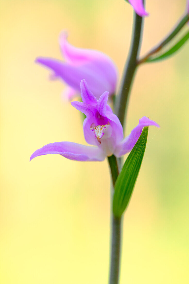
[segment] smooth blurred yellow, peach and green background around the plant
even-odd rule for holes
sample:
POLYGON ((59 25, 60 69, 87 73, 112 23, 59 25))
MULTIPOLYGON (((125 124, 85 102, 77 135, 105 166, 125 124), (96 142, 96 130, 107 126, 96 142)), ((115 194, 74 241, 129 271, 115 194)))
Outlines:
MULTIPOLYGON (((183 14, 186 1, 146 1, 141 54, 183 14)), ((85 143, 80 113, 61 99, 37 56, 61 58, 58 35, 108 54, 121 74, 133 11, 123 0, 1 1, 0 283, 107 283, 107 161, 30 155, 56 141, 85 143)), ((147 149, 124 218, 120 283, 188 283, 189 43, 165 62, 139 68, 127 134, 142 116, 147 149)))

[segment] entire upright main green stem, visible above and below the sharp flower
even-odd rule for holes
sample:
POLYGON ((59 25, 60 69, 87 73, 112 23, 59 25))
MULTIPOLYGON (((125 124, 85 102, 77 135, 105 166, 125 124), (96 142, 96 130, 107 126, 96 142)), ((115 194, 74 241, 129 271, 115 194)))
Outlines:
MULTIPOLYGON (((119 95, 117 96, 115 104, 115 106, 117 107, 116 114, 119 120, 121 121, 122 125, 124 124, 126 106, 128 104, 131 83, 133 81, 133 76, 135 74, 135 70, 137 67, 137 56, 140 49, 141 29, 142 29, 142 18, 134 12, 133 36, 131 41, 129 58, 125 66, 120 92, 119 95)), ((112 174, 112 182, 113 185, 115 185, 117 176, 119 174, 117 159, 114 155, 112 155, 111 157, 108 157, 108 162, 112 174)), ((111 202, 111 208, 112 208, 112 203, 113 202, 111 202)), ((112 237, 111 237, 109 284, 119 283, 121 237, 122 237, 121 218, 116 218, 112 214, 112 237)))

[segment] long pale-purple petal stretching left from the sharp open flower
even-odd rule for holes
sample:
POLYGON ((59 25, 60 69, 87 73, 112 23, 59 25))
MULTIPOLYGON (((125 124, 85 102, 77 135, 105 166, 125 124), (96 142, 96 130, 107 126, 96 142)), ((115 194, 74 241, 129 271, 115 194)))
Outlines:
POLYGON ((65 158, 75 161, 103 161, 105 156, 98 147, 85 146, 73 142, 50 143, 35 151, 30 161, 47 154, 60 154, 65 158))

